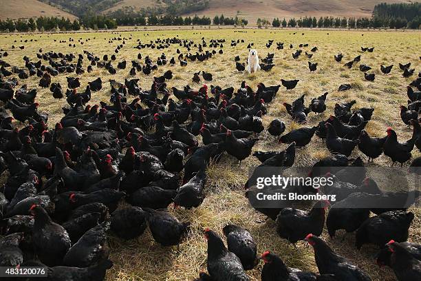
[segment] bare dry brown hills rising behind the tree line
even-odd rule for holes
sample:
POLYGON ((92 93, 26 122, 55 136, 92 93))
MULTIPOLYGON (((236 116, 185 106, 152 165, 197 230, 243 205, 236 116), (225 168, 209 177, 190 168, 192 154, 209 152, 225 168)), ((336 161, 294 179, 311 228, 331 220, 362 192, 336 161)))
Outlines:
MULTIPOLYGON (((67 12, 63 12, 59 8, 69 12, 75 11, 74 14, 77 14, 76 11, 83 7, 83 5, 79 5, 83 3, 80 0, 51 0, 50 2, 54 3, 54 6, 57 8, 48 5, 47 0, 42 1, 45 3, 36 0, 0 0, 2 11, 0 17, 2 19, 6 17, 13 19, 39 17, 41 15, 70 17, 67 12), (67 3, 67 5, 63 5, 63 3, 67 3), (72 7, 72 3, 77 3, 78 6, 72 7)), ((411 3, 408 0, 209 0, 208 8, 183 15, 192 16, 198 14, 199 16, 206 15, 208 17, 214 17, 215 14, 224 14, 228 17, 239 15, 248 19, 250 24, 255 24, 259 17, 270 20, 274 17, 321 17, 331 15, 334 17, 370 17, 374 6, 382 2, 411 3)), ((165 6, 162 0, 87 0, 85 3, 91 4, 89 8, 96 8, 98 9, 96 12, 101 12, 102 14, 119 10, 125 6, 133 7, 134 10, 165 6), (108 3, 110 4, 107 5, 108 3)))

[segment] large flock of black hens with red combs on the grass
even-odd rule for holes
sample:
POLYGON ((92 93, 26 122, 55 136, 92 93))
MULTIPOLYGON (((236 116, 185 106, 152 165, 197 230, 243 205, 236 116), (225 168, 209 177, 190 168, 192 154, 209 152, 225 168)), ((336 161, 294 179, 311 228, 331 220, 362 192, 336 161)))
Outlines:
MULTIPOLYGON (((201 205, 206 196, 208 164, 213 161, 217 165, 222 157, 233 156, 240 163, 248 158, 257 136, 265 130, 261 116, 268 112, 279 89, 283 86, 291 90, 299 83, 299 80, 282 79, 281 85, 259 83, 255 90, 246 82, 237 90, 213 85, 209 88, 206 83, 213 80, 213 75, 201 71, 193 76, 194 82, 205 83, 198 90, 189 86, 169 89, 167 83, 171 83, 173 72, 168 70, 163 76, 153 77, 150 90, 140 88, 139 79, 125 79, 121 83, 111 80, 108 103, 91 105, 91 96, 102 89, 100 77, 85 85, 84 91, 80 90, 77 76, 67 77, 67 85, 54 82, 55 76, 82 75, 94 68, 102 68, 109 74, 129 68, 130 76, 137 72, 149 75, 164 65, 180 63, 186 67, 195 61, 213 59, 223 53, 224 44, 244 43, 244 40, 226 43, 224 39, 206 41, 204 38, 199 43, 177 38, 149 43, 138 40, 134 47, 138 50, 164 50, 178 45, 178 56, 169 59, 163 52, 153 61, 139 53, 130 65, 127 61, 117 62, 118 53, 126 48, 125 41, 121 35, 110 39, 109 43, 118 43, 115 54, 102 59, 88 51, 75 55, 40 49, 36 54, 38 60, 23 57, 24 68, 7 63, 8 52, 1 51, 0 171, 7 176, 0 192, 3 235, 0 266, 46 266, 48 280, 103 280, 107 269, 112 267, 108 260, 108 233, 128 240, 141 236, 149 227, 153 239, 162 246, 179 244, 190 231, 190 223, 180 222, 166 209, 172 204, 186 209, 201 205), (204 51, 206 47, 211 50, 204 51), (180 51, 183 48, 185 53, 180 51), (191 50, 197 52, 192 54, 191 50), (54 129, 47 126, 48 114, 37 110, 37 89, 25 85, 29 76, 38 76, 39 87, 49 88, 54 98, 67 101, 63 118, 54 129), (120 204, 121 201, 125 204, 120 204)), ((266 47, 270 48, 272 43, 268 41, 266 47)), ((74 39, 69 39, 69 47, 75 44, 74 39)), ((248 48, 252 45, 248 44, 248 48)), ((293 58, 301 56, 307 47, 308 44, 299 45, 293 58)), ((277 49, 283 49, 283 43, 278 42, 277 49)), ((374 48, 362 48, 362 52, 374 52, 374 48)), ((314 47, 305 56, 312 59, 316 53, 314 47)), ((343 55, 338 54, 332 61, 340 63, 342 59, 343 55)), ((360 59, 361 56, 356 56, 345 66, 351 68, 360 59)), ((245 70, 239 56, 234 61, 238 71, 245 70)), ((262 60, 261 68, 270 71, 273 66, 274 54, 269 53, 262 60)), ((316 71, 317 63, 309 61, 308 67, 316 71)), ((387 75, 392 67, 380 65, 380 70, 387 75)), ((411 63, 399 67, 404 77, 415 71, 411 63)), ((371 67, 360 64, 359 68, 365 79, 374 81, 375 74, 368 73, 371 67)), ((375 109, 354 111, 352 106, 356 101, 351 101, 336 104, 333 114, 319 125, 292 129, 288 134, 284 134, 285 123, 274 119, 267 130, 279 143, 289 144, 288 148, 252 154, 261 161, 259 167, 287 169, 294 165, 296 147, 308 145, 314 134, 325 140, 332 155, 319 160, 310 175, 320 176, 325 174, 323 167, 335 167, 329 171, 334 174, 334 186, 328 192, 336 194, 338 200, 330 203, 334 205, 328 214, 330 204, 325 201, 316 202, 310 211, 291 207, 257 209, 276 221, 281 238, 292 243, 305 240, 314 248, 320 275, 288 267, 277 253, 266 251, 259 255, 257 244, 246 229, 227 225, 223 229, 227 247, 215 231, 205 229, 208 274, 200 273, 197 280, 250 280, 246 271, 256 267, 259 260, 264 262, 261 271, 264 281, 371 280, 367 273, 339 256, 318 237, 326 214, 331 237, 338 229, 356 231, 356 247, 378 245, 378 264, 391 267, 398 280, 420 280, 421 245, 406 242, 414 218, 407 208, 420 192, 382 191, 373 179, 366 177, 360 157, 348 158, 358 147, 369 160, 385 154, 393 164, 402 165, 411 158, 413 149, 421 149, 420 76, 407 87, 409 104, 401 106, 402 121, 413 126, 413 136, 406 143, 398 142, 392 128, 387 129, 383 138, 369 136, 365 125, 375 109), (381 209, 352 208, 355 202, 365 198, 397 205, 381 209), (412 200, 404 206, 407 198, 412 200), (370 216, 371 212, 376 216, 370 216)), ((351 87, 340 85, 338 90, 351 87)), ((305 105, 303 95, 283 105, 294 121, 305 123, 311 112, 325 112, 327 98, 325 93, 305 105)), ((421 159, 417 158, 411 166, 420 164, 421 159)), ((415 172, 419 170, 415 168, 415 172)), ((248 195, 252 194, 253 187, 246 184, 245 188, 248 195)), ((315 192, 312 187, 300 190, 303 194, 315 192)))

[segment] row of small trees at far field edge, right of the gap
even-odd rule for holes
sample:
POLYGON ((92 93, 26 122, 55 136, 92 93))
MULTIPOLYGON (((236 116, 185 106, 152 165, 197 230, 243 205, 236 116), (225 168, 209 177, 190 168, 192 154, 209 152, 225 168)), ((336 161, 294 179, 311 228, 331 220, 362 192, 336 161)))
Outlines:
MULTIPOLYGON (((270 23, 266 19, 257 19, 257 26, 268 27, 270 23)), ((421 28, 421 17, 414 17, 411 21, 405 18, 391 17, 389 19, 382 19, 380 17, 362 18, 340 18, 340 17, 301 17, 299 19, 273 19, 272 26, 274 28, 290 27, 290 28, 421 28)))

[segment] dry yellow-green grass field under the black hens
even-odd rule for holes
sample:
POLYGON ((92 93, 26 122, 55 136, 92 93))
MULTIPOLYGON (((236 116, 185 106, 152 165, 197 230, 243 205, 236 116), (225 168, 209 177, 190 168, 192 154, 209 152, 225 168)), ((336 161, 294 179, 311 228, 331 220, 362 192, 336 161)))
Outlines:
MULTIPOLYGON (((320 116, 310 114, 308 124, 313 126, 321 120, 325 120, 330 114, 333 114, 335 103, 357 101, 354 109, 359 107, 375 107, 374 115, 367 125, 367 131, 374 136, 385 136, 387 127, 391 126, 396 130, 399 141, 411 138, 411 129, 404 125, 400 120, 399 106, 407 104, 406 86, 415 79, 404 79, 399 70, 398 63, 412 63, 416 73, 421 70, 421 32, 367 32, 367 31, 326 31, 326 30, 247 30, 239 33, 235 30, 183 30, 183 31, 147 31, 147 32, 116 32, 116 33, 86 33, 86 34, 34 34, 34 35, 0 35, 0 48, 7 50, 9 56, 3 58, 12 65, 23 67, 23 56, 29 56, 31 60, 36 59, 36 52, 39 48, 43 52, 55 51, 63 53, 83 53, 83 50, 89 50, 100 56, 104 54, 114 54, 116 45, 122 41, 114 41, 108 43, 109 39, 117 38, 120 35, 125 37, 125 47, 120 50, 117 55, 117 61, 126 59, 130 62, 136 59, 138 52, 142 56, 151 56, 154 61, 164 52, 171 59, 172 56, 177 58, 176 49, 178 45, 172 45, 171 48, 165 50, 136 50, 133 46, 137 45, 136 40, 140 39, 143 43, 158 38, 165 39, 168 37, 178 36, 180 39, 193 40, 199 43, 204 37, 206 41, 210 39, 226 39, 224 43, 224 54, 216 54, 212 59, 204 62, 189 62, 187 67, 166 65, 160 67, 159 70, 150 76, 144 74, 136 75, 140 78, 140 85, 149 89, 153 76, 162 75, 166 70, 172 70, 175 74, 171 81, 168 81, 169 88, 172 86, 183 87, 186 84, 191 87, 198 88, 202 83, 196 84, 191 81, 193 72, 206 70, 213 73, 214 81, 212 85, 220 85, 221 87, 239 87, 241 81, 246 81, 253 89, 259 82, 265 85, 278 85, 280 79, 299 79, 300 82, 294 90, 285 91, 281 87, 274 100, 268 105, 268 114, 263 116, 265 127, 268 126, 273 118, 280 118, 287 124, 287 132, 299 127, 296 123, 291 123, 290 116, 282 106, 283 102, 291 103, 301 94, 307 94, 305 103, 310 103, 311 98, 320 96, 323 92, 329 92, 327 95, 327 111, 320 116), (296 33, 295 33, 296 32, 296 33), (69 48, 68 42, 58 43, 59 40, 68 41, 69 37, 75 39, 76 48, 69 48), (131 37, 131 39, 129 39, 131 37), (20 43, 20 40, 37 39, 38 42, 20 43), (56 39, 56 42, 54 42, 56 39), (78 43, 78 39, 84 42, 83 45, 78 43), (91 39, 86 41, 86 39, 91 39), (244 39, 246 43, 230 47, 231 39, 244 39), (276 50, 274 43, 270 49, 266 48, 268 39, 274 39, 275 42, 284 42, 284 50, 276 50), (14 41, 17 40, 17 43, 14 41), (268 52, 274 52, 274 63, 276 66, 271 72, 259 72, 254 75, 237 72, 235 69, 234 56, 239 55, 241 61, 246 61, 248 55, 247 45, 254 42, 254 48, 257 49, 261 57, 266 56, 268 52), (293 49, 289 48, 290 43, 294 45, 293 49), (292 52, 298 49, 300 43, 309 43, 308 48, 304 48, 307 52, 314 46, 319 50, 314 53, 310 61, 318 62, 318 70, 310 73, 307 67, 307 57, 301 55, 298 60, 292 59, 292 52), (12 50, 12 45, 25 45, 25 50, 19 48, 12 50), (360 47, 375 47, 373 53, 360 53, 360 47), (376 74, 374 82, 365 81, 363 72, 357 67, 351 70, 343 67, 343 63, 334 61, 334 54, 342 52, 344 54, 343 63, 354 59, 355 56, 361 54, 360 63, 364 63, 373 67, 376 74), (380 64, 391 65, 393 70, 391 74, 385 76, 380 72, 380 64), (347 92, 337 92, 338 86, 342 83, 350 83, 352 90, 347 92)), ((208 48, 204 48, 208 50, 208 48)), ((182 52, 186 52, 183 48, 182 52)), ((219 49, 217 49, 218 51, 219 49)), ((193 49, 194 53, 195 50, 193 49)), ((116 61, 116 62, 117 62, 116 61)), ((117 63, 114 63, 116 65, 117 63)), ((84 61, 84 67, 87 59, 84 61)), ((128 63, 129 64, 129 63, 128 63)), ((60 82, 63 87, 67 85, 66 75, 59 75, 52 79, 53 82, 60 82)), ((71 76, 74 76, 71 75, 71 76)), ((84 90, 88 81, 93 81, 98 76, 102 77, 104 87, 100 92, 92 95, 91 103, 99 101, 109 102, 109 79, 124 81, 129 76, 129 68, 126 70, 118 70, 117 74, 111 76, 106 70, 97 70, 90 74, 81 76, 80 90, 84 90)), ((37 87, 39 79, 32 77, 25 81, 28 87, 37 87)), ((39 110, 50 113, 50 127, 54 127, 54 123, 59 121, 61 116, 61 107, 65 105, 65 99, 58 101, 52 98, 50 91, 39 88, 37 101, 41 104, 39 110)), ((200 137, 199 137, 200 138, 200 137)), ((266 131, 259 136, 261 141, 255 145, 254 150, 272 150, 284 149, 285 145, 278 145, 273 141, 272 136, 266 131)), ((413 150, 413 156, 421 154, 413 150)), ((296 154, 295 165, 307 166, 312 165, 318 158, 327 156, 328 152, 325 144, 316 136, 312 139, 310 145, 300 149, 296 154)), ((353 156, 360 155, 358 149, 354 150, 353 156)), ((364 156, 365 162, 367 158, 364 156)), ((175 214, 180 220, 191 221, 192 231, 180 247, 164 248, 153 242, 149 232, 137 240, 123 242, 116 238, 110 238, 111 260, 114 261, 114 267, 108 273, 108 280, 193 280, 200 271, 206 271, 206 240, 203 237, 203 229, 209 227, 222 234, 222 227, 228 222, 235 223, 241 227, 246 227, 252 233, 252 236, 258 243, 259 253, 271 250, 279 253, 281 258, 290 267, 299 269, 317 271, 314 262, 313 251, 305 243, 297 244, 298 250, 288 244, 286 240, 282 240, 277 236, 274 230, 274 222, 266 220, 261 214, 254 211, 249 205, 248 200, 244 197, 244 191, 241 187, 246 180, 248 169, 258 164, 257 159, 249 157, 244 160, 241 166, 237 160, 230 156, 225 156, 221 163, 210 165, 208 169, 208 185, 206 187, 207 197, 203 204, 197 209, 171 209, 171 213, 175 214)), ((390 166, 391 161, 386 156, 380 156, 374 163, 374 166, 390 166)), ((415 220, 411 226, 410 241, 421 242, 421 211, 415 211, 415 220)), ((393 272, 389 269, 378 269, 374 260, 376 247, 365 245, 363 249, 357 251, 354 247, 354 237, 349 235, 342 242, 341 234, 338 238, 331 240, 327 236, 327 232, 323 233, 323 238, 328 244, 343 256, 352 260, 359 267, 362 267, 376 281, 394 280, 393 272)), ((262 264, 256 269, 248 271, 252 280, 260 280, 260 271, 262 264)))

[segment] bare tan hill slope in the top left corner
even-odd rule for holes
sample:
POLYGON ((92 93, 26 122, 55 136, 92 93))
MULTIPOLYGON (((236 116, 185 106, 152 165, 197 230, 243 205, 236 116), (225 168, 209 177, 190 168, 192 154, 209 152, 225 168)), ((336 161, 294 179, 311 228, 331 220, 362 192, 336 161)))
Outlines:
POLYGON ((41 16, 76 18, 73 14, 36 0, 0 0, 0 11, 0 19, 29 19, 41 16))

